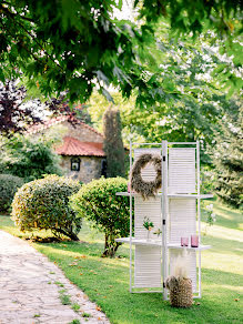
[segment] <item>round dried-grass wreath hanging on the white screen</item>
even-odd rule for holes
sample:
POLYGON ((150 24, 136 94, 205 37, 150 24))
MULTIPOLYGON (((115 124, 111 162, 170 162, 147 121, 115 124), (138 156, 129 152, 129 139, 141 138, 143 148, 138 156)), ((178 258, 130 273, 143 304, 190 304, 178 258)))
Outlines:
POLYGON ((142 154, 132 168, 131 173, 131 190, 141 193, 145 200, 149 196, 154 196, 162 184, 161 174, 161 158, 159 155, 152 155, 149 153, 142 154), (156 176, 153 181, 144 181, 142 179, 141 171, 148 164, 152 163, 156 171, 156 176))

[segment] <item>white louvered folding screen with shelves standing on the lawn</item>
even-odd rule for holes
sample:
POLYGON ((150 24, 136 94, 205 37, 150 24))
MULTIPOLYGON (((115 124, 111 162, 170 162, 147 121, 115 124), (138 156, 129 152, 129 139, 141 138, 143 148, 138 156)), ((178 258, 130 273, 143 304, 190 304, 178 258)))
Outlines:
MULTIPOLYGON (((138 193, 117 193, 130 196, 130 237, 117 240, 130 244, 130 292, 161 292, 166 300, 164 282, 173 273, 175 261, 180 256, 189 265, 193 296, 201 297, 201 251, 211 246, 201 245, 200 201, 213 195, 200 194, 199 141, 143 144, 130 142, 130 170, 133 162, 144 153, 162 158, 161 191, 148 200, 143 200, 138 193), (162 235, 151 233, 148 239, 148 231, 143 226, 145 216, 153 222, 154 230, 162 230, 162 235), (190 242, 194 234, 199 235, 199 247, 191 247, 190 243, 188 247, 182 247, 181 237, 188 236, 190 242)), ((153 180, 155 175, 152 165, 142 170, 145 181, 153 180)))

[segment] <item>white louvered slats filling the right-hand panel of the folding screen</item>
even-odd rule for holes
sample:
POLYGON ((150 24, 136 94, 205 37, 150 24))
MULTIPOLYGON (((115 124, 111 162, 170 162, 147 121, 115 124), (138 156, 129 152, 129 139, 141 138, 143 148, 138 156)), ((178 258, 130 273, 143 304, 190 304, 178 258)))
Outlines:
MULTIPOLYGON (((169 149, 169 193, 195 193, 196 191, 195 149, 169 149)), ((169 200, 169 231, 168 242, 180 245, 181 237, 189 237, 196 233, 196 202, 194 199, 169 200)), ((189 277, 192 280, 193 292, 196 292, 196 253, 170 249, 169 274, 173 274, 178 257, 183 257, 188 265, 189 277)), ((183 266, 182 264, 182 266, 183 266)))

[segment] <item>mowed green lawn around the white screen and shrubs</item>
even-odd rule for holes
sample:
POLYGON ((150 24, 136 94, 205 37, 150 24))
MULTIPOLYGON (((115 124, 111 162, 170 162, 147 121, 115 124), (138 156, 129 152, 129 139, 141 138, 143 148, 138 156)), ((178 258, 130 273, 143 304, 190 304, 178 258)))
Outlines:
MULTIPOLYGON (((204 244, 212 245, 202 252, 202 298, 189 310, 171 307, 159 293, 130 294, 129 246, 119 249, 119 257, 100 257, 103 236, 87 224, 80 232, 81 242, 32 244, 97 302, 111 323, 243 323, 242 213, 217 202, 214 211, 216 224, 207 227, 202 237, 204 244)), ((26 236, 8 216, 0 216, 0 227, 26 236)))

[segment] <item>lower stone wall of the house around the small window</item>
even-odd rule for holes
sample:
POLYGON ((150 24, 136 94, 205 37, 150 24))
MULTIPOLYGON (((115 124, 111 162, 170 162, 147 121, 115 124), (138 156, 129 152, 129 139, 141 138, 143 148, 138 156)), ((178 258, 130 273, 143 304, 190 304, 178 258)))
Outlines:
MULTIPOLYGON (((88 183, 93 179, 101 176, 101 161, 103 158, 99 156, 79 156, 80 158, 80 171, 71 171, 71 158, 61 156, 61 166, 67 171, 67 175, 88 183)), ((77 158, 77 156, 75 156, 77 158)))

